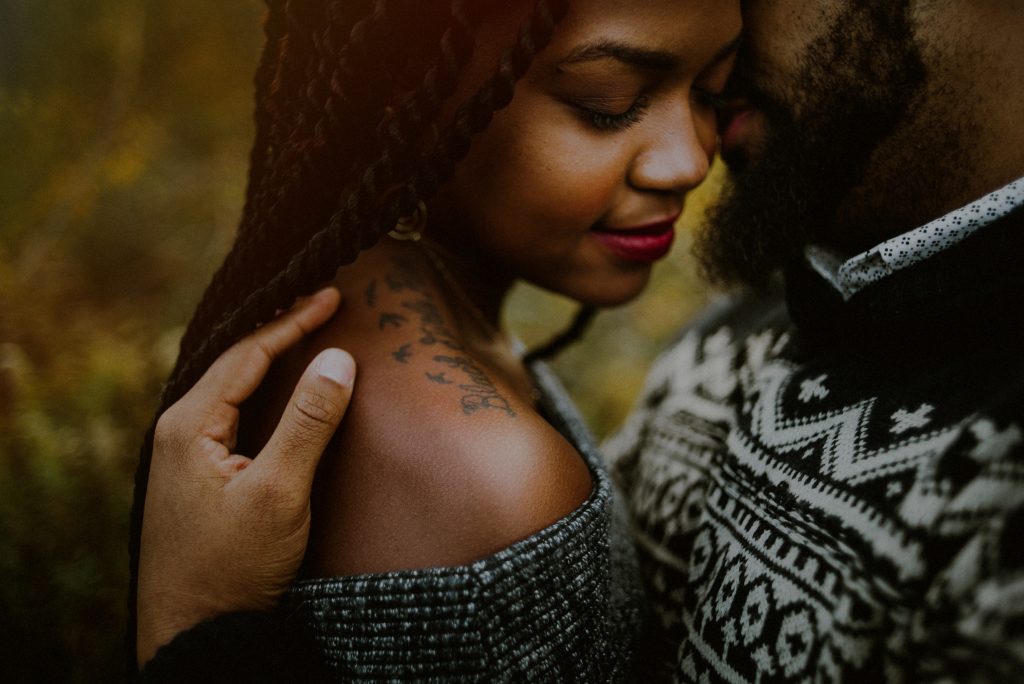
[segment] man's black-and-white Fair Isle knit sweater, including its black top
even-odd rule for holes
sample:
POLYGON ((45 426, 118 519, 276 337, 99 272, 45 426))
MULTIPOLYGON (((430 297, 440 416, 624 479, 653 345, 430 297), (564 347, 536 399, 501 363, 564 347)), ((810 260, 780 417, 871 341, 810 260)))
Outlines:
POLYGON ((725 303, 605 445, 644 681, 1024 681, 1024 212, 844 302, 725 303))

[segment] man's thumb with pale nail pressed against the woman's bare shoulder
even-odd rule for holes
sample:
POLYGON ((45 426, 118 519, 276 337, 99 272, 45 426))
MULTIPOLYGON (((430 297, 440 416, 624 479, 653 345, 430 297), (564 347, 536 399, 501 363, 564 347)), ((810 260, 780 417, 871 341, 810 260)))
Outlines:
POLYGON ((309 497, 313 474, 348 409, 355 379, 355 361, 341 349, 325 349, 302 374, 292 398, 253 464, 275 471, 284 480, 298 478, 309 497))

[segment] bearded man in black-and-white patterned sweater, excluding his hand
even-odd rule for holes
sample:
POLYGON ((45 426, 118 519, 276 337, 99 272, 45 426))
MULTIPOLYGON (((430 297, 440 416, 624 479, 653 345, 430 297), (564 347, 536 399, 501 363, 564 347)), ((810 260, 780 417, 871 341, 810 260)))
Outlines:
POLYGON ((1024 5, 745 12, 698 252, 768 294, 684 331, 607 444, 649 676, 1015 681, 1024 5))

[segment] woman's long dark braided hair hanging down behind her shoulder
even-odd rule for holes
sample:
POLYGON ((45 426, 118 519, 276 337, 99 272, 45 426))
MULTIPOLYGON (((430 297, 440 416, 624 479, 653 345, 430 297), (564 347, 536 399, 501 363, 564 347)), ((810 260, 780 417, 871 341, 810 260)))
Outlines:
MULTIPOLYGON (((231 344, 322 287, 434 195, 473 136, 511 101, 568 8, 568 0, 531 2, 489 78, 434 136, 441 106, 473 54, 476 29, 500 0, 449 0, 443 11, 425 0, 266 0, 242 220, 186 328, 157 416, 231 344)), ((131 514, 132 671, 155 426, 142 445, 131 514)))

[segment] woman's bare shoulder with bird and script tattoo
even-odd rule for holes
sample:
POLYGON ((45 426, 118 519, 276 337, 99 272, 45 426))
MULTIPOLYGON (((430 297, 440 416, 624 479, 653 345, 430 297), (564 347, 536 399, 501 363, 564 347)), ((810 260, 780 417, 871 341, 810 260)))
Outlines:
POLYGON ((591 493, 575 448, 460 342, 424 265, 389 258, 346 279, 319 341, 352 352, 358 377, 317 474, 313 575, 467 563, 591 493))

